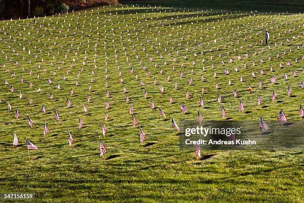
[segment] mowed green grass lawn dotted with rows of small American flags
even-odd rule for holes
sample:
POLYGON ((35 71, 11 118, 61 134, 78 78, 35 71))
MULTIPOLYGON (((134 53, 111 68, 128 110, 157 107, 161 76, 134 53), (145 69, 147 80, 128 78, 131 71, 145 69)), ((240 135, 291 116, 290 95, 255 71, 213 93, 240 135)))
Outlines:
POLYGON ((303 151, 205 151, 202 147, 203 156, 214 156, 198 161, 193 151, 179 150, 178 132, 172 128, 170 120, 174 118, 177 124, 184 119, 197 120, 197 110, 206 120, 222 120, 222 104, 231 120, 251 119, 257 123, 259 117, 276 120, 280 109, 288 120, 302 119, 299 107, 304 94, 301 89, 304 80, 303 18, 303 14, 223 12, 222 16, 222 12, 210 10, 124 5, 123 8, 117 6, 117 14, 115 6, 111 6, 99 8, 99 14, 94 8, 93 11, 36 18, 36 24, 33 19, 0 22, 0 48, 3 51, 0 59, 5 64, 0 71, 0 192, 34 193, 36 202, 303 202, 303 151), (270 49, 265 43, 260 44, 265 28, 270 32, 270 49), (241 56, 239 60, 238 55, 241 56), (152 61, 150 57, 153 57, 152 61), (232 63, 229 63, 230 57, 232 63), (286 66, 288 60, 291 66, 286 66), (16 61, 18 64, 14 65, 16 61), (40 68, 37 68, 38 63, 40 68), (119 82, 118 65, 123 83, 119 82), (143 65, 151 73, 150 77, 146 76, 143 65), (108 87, 104 85, 105 66, 108 87), (234 66, 237 72, 233 71, 234 66), (270 72, 271 66, 273 72, 270 72), (132 74, 130 67, 134 69, 132 74), (263 75, 259 74, 261 68, 263 75), (225 75, 225 69, 229 75, 225 75), (30 70, 32 75, 29 75, 30 70), (182 78, 179 71, 183 72, 182 78), (251 76, 252 71, 255 78, 251 76), (11 77, 12 73, 15 77, 11 77), (288 80, 284 79, 284 73, 288 80), (62 80, 63 74, 65 80, 62 80), (168 75, 170 81, 167 81, 168 75), (201 81, 201 75, 204 81, 201 81), (275 84, 270 82, 272 75, 277 79, 275 84), (19 82, 21 76, 23 84, 19 82), (243 82, 240 82, 240 76, 243 82), (48 77, 52 81, 50 85, 48 77), (90 83, 91 77, 93 83, 90 83), (193 80, 192 86, 189 86, 189 77, 193 80), (228 79, 231 86, 228 86, 228 79), (4 80, 9 85, 5 86, 4 80), (145 86, 140 87, 139 80, 145 86), (259 80, 263 83, 262 88, 258 87, 259 80), (30 82, 33 88, 29 88, 30 82), (220 86, 218 90, 216 82, 220 86), (56 89, 58 83, 59 90, 56 89), (253 87, 253 94, 247 93, 248 84, 253 87), (13 93, 10 85, 15 89, 13 93), (122 92, 123 85, 130 98, 128 104, 122 92), (295 97, 287 95, 288 85, 295 97), (162 95, 159 94, 160 86, 164 88, 162 95), (36 93, 39 87, 41 93, 36 93), (202 87, 206 89, 204 94, 202 87), (106 98, 106 89, 109 98, 106 98), (147 99, 144 98, 145 89, 147 99), (233 89, 238 93, 236 98, 232 96, 233 89), (186 99, 186 90, 190 93, 189 99, 186 99), (275 102, 271 101, 273 90, 277 94, 275 102), (19 91, 22 99, 19 99, 19 91), (51 92, 53 100, 49 99, 51 92), (87 102, 87 94, 91 97, 90 102, 87 102), (218 94, 222 104, 217 101, 218 94), (258 94, 263 100, 261 106, 257 105, 258 94), (172 104, 169 103, 170 95, 172 104), (30 97, 33 99, 31 105, 30 97), (204 108, 199 106, 200 97, 204 108), (67 98, 72 102, 71 107, 66 105, 67 98), (108 121, 104 121, 106 99, 110 103, 108 121), (155 105, 153 110, 149 107, 151 99, 155 105), (238 112, 240 99, 244 103, 243 112, 238 112), (12 106, 10 111, 8 102, 12 106), (181 102, 189 108, 186 115, 180 111, 181 102), (86 113, 84 103, 88 109, 86 113), (46 114, 41 112, 42 104, 46 114), (146 134, 145 144, 140 143, 138 125, 133 128, 130 104, 138 125, 146 134), (160 118, 158 107, 165 112, 166 119, 160 118), (19 119, 14 118, 15 108, 20 113, 19 119), (59 121, 54 119, 55 110, 59 121), (32 129, 27 115, 33 120, 32 129), (78 128, 79 117, 83 121, 81 129, 78 128), (50 128, 48 135, 43 135, 45 122, 50 128), (108 128, 106 136, 102 135, 102 122, 108 128), (68 129, 75 141, 72 149, 68 144, 68 129), (16 148, 12 147, 14 132, 20 143, 16 148), (99 136, 108 149, 104 158, 99 157, 99 136), (30 161, 26 138, 40 149, 30 151, 30 161))

